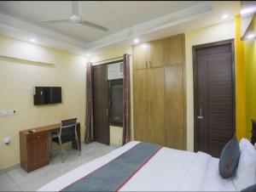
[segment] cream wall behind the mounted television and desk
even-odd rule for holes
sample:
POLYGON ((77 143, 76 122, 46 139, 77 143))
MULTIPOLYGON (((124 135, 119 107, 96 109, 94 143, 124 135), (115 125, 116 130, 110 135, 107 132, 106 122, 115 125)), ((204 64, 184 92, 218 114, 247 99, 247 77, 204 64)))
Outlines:
POLYGON ((20 163, 20 130, 78 117, 84 140, 86 59, 9 37, 0 37, 0 54, 55 64, 0 58, 0 110, 17 110, 14 116, 0 116, 0 169, 20 163), (34 86, 61 86, 62 104, 34 106, 34 86), (11 138, 8 146, 3 144, 5 137, 11 138))

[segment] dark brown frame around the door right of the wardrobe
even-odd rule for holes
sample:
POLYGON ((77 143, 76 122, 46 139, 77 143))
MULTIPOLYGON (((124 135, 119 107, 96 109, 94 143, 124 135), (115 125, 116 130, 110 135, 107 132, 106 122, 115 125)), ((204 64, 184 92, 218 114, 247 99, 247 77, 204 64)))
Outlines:
POLYGON ((234 46, 234 38, 227 39, 219 42, 209 42, 200 45, 192 46, 192 57, 193 57, 193 85, 194 85, 194 151, 198 150, 197 146, 197 133, 198 133, 198 125, 197 125, 197 58, 196 51, 201 48, 214 48, 221 45, 231 45, 232 52, 232 89, 233 89, 233 132, 236 133, 236 60, 235 60, 235 46, 234 46))

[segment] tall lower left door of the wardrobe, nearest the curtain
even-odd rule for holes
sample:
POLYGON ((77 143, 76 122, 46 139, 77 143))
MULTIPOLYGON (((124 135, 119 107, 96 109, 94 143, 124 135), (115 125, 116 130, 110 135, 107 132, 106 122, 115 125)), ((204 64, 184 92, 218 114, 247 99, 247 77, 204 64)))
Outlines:
POLYGON ((138 141, 147 141, 146 128, 148 128, 148 93, 146 88, 148 70, 133 72, 133 121, 134 138, 138 141))

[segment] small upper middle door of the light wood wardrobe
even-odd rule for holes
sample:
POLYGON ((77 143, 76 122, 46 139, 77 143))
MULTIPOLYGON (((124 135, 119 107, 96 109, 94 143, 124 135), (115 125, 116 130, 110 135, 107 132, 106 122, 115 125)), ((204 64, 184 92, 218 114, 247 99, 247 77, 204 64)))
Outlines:
POLYGON ((148 43, 148 67, 164 65, 164 45, 162 40, 148 43))

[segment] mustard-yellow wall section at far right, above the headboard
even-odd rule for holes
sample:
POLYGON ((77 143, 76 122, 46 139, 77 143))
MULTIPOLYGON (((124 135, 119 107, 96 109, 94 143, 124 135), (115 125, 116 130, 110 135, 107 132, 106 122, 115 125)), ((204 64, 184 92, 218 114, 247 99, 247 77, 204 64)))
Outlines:
POLYGON ((251 137, 252 119, 256 120, 256 42, 244 41, 246 69, 246 127, 244 137, 251 137))

